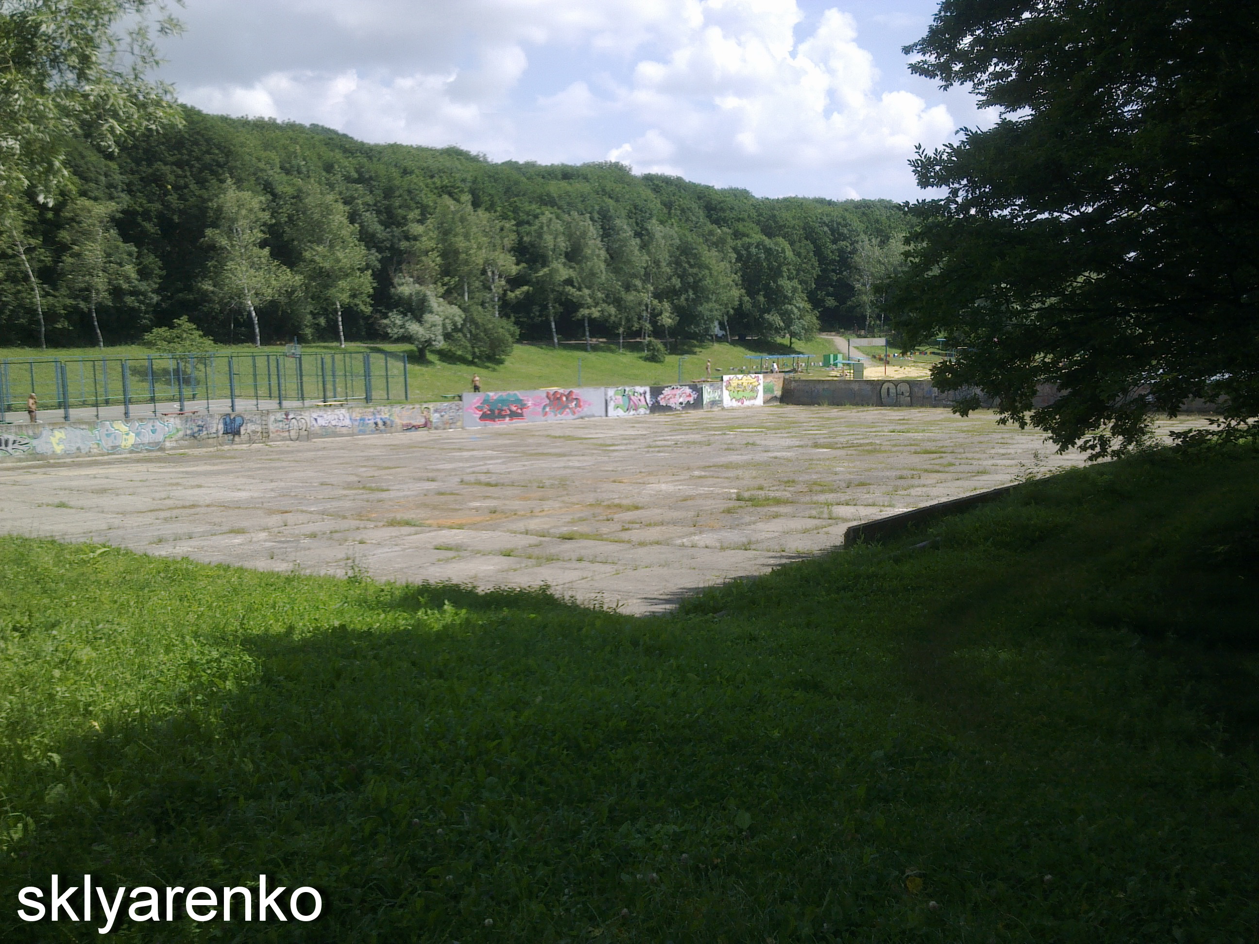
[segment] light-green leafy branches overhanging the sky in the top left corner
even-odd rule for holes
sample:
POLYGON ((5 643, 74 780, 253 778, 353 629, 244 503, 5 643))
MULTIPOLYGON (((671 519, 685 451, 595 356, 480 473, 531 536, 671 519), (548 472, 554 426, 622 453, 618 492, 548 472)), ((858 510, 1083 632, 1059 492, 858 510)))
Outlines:
POLYGON ((179 23, 151 0, 23 0, 0 6, 0 194, 52 203, 65 151, 87 137, 115 151, 132 133, 179 120, 154 28, 179 23))

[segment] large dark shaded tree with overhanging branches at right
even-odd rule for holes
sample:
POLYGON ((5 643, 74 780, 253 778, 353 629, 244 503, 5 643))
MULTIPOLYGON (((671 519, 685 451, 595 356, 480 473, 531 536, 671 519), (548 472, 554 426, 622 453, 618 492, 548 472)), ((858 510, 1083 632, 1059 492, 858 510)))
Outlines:
POLYGON ((1099 454, 1192 398, 1253 429, 1259 5, 944 0, 906 52, 1001 115, 914 162, 944 195, 894 306, 963 349, 937 384, 1099 454), (1065 395, 1034 409, 1041 383, 1065 395))

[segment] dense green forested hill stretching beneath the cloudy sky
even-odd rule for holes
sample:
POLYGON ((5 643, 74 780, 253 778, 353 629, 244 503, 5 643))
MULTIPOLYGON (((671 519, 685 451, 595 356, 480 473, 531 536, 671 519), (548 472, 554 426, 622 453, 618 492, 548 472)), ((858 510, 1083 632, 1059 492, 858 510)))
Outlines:
POLYGON ((96 341, 93 317, 107 344, 180 316, 252 341, 254 315, 263 342, 335 339, 340 317, 351 340, 491 355, 517 331, 801 336, 871 316, 905 229, 888 200, 758 199, 193 108, 116 155, 77 145, 71 167, 77 196, 33 204, 28 250, 4 247, 0 345, 38 342, 37 288, 50 345, 96 341), (247 249, 248 298, 232 287, 247 249))

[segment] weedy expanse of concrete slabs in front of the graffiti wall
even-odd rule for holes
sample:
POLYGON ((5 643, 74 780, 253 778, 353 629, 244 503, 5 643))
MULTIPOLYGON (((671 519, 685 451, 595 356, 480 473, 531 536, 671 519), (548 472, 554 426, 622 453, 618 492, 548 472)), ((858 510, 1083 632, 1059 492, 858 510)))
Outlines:
POLYGON ((991 414, 767 407, 0 464, 10 532, 633 613, 859 520, 1081 463, 991 414))

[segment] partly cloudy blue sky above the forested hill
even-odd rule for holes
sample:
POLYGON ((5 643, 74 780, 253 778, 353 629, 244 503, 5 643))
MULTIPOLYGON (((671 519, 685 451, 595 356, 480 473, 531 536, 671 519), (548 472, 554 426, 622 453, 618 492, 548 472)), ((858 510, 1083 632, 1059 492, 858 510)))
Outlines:
POLYGON ((912 76, 928 0, 186 0, 162 78, 208 112, 616 160, 760 196, 914 199, 908 160, 987 123, 912 76))

